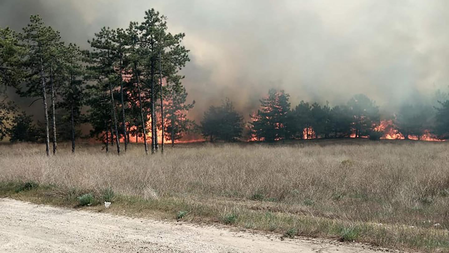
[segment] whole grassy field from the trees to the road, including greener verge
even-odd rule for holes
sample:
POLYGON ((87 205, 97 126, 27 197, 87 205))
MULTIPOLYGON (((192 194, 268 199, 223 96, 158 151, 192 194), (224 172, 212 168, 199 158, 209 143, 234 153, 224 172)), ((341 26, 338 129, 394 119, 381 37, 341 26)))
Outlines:
POLYGON ((324 140, 178 145, 145 156, 84 145, 47 158, 0 145, 0 196, 111 212, 220 222, 242 229, 449 252, 449 145, 324 140), (97 208, 100 208, 98 205, 97 208))

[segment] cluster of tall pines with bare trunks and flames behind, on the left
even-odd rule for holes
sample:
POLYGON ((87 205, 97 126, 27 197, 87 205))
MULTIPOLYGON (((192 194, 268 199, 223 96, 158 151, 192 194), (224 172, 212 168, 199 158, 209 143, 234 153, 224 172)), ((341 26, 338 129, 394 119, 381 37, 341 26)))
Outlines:
MULTIPOLYGON (((31 16, 22 32, 0 28, 0 86, 42 103, 43 123, 18 112, 6 98, 0 101, 0 140, 44 141, 46 153, 57 152, 57 140, 75 140, 80 125, 90 125, 89 138, 101 140, 106 152, 114 143, 120 154, 131 136, 144 142, 151 135, 151 153, 158 142, 174 143, 193 122, 185 115, 193 107, 181 84, 179 70, 189 61, 184 33, 167 32, 167 18, 154 9, 126 29, 103 27, 81 50, 61 41, 59 32, 31 16), (162 140, 158 140, 161 132, 162 140)), ((30 105, 31 106, 31 105, 30 105)))

